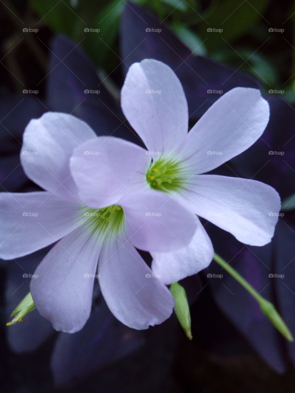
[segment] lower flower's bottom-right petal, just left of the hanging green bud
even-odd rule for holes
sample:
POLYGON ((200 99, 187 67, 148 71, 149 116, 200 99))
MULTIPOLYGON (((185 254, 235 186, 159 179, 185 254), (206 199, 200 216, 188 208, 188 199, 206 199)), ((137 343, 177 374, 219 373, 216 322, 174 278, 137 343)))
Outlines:
POLYGON ((105 240, 98 262, 100 287, 114 316, 133 329, 162 323, 173 310, 173 296, 128 241, 105 240))

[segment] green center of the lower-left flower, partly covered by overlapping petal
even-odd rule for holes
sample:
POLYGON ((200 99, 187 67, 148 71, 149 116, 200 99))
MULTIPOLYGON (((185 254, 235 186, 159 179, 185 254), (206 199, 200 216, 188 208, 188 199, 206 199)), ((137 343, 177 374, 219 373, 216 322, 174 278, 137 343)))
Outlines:
POLYGON ((119 205, 111 205, 102 209, 85 207, 83 214, 89 220, 92 233, 116 235, 124 224, 124 210, 119 205))

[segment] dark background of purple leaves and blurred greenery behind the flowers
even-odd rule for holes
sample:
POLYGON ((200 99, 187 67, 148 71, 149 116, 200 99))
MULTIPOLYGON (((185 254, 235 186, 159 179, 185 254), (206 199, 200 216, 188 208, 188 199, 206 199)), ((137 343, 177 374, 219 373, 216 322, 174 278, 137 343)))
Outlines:
MULTIPOLYGON (((271 108, 265 133, 215 173, 264 181, 283 201, 295 193, 294 2, 3 0, 0 8, 1 191, 37 189, 18 155, 24 128, 48 110, 72 113, 98 135, 138 141, 124 122, 119 93, 128 66, 154 58, 181 80, 190 125, 219 98, 208 90, 260 88, 271 108), (161 31, 146 31, 152 28, 161 31)), ((203 222, 216 252, 276 305, 293 335, 294 207, 287 204, 273 241, 264 247, 245 246, 203 222), (269 278, 273 273, 284 278, 269 278)), ((81 332, 57 333, 36 310, 6 327, 29 290, 22 274, 33 273, 45 253, 0 261, 0 392, 295 391, 295 344, 280 336, 215 262, 181 283, 191 305, 192 341, 174 315, 144 332, 124 327, 98 288, 81 332)))

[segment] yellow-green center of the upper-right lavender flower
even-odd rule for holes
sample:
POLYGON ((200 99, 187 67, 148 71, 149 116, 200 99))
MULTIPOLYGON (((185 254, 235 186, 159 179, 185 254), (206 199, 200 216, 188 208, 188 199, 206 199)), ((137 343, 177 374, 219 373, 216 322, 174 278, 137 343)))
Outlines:
POLYGON ((179 191, 184 188, 183 164, 171 158, 151 162, 146 180, 151 188, 159 191, 179 191))

